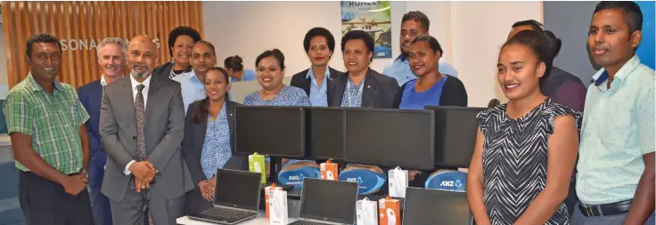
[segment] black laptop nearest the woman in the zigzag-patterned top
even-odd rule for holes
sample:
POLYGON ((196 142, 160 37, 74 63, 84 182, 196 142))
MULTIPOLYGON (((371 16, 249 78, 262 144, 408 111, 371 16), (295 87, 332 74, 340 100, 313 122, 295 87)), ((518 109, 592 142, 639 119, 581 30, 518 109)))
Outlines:
POLYGON ((471 225, 467 193, 437 189, 406 189, 403 224, 471 225))

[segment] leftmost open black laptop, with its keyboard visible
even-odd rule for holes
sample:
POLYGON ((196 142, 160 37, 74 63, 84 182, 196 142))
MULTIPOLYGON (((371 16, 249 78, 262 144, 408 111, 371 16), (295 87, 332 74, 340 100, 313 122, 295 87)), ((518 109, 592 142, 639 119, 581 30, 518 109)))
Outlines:
POLYGON ((189 219, 217 224, 237 224, 258 216, 261 174, 218 169, 214 207, 187 215, 189 219))

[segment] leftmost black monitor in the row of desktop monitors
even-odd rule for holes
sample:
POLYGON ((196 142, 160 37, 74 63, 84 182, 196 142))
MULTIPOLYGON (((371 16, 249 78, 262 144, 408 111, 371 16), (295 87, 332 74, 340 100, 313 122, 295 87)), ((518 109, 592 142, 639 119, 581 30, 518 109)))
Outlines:
POLYGON ((237 106, 234 111, 236 153, 305 157, 305 108, 237 106))

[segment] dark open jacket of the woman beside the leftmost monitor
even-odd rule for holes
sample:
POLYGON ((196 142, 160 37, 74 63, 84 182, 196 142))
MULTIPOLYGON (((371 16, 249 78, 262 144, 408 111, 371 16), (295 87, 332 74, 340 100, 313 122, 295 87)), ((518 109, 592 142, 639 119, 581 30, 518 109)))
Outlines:
MULTIPOLYGON (((187 109, 187 117, 184 120, 184 141, 182 141, 182 155, 184 161, 189 167, 189 172, 192 173, 192 180, 194 186, 202 180, 206 180, 205 173, 202 172, 201 155, 202 147, 205 144, 205 132, 208 129, 208 117, 202 117, 201 123, 193 123, 193 113, 197 110, 202 100, 197 100, 189 105, 187 109)), ((234 101, 225 102, 225 112, 228 119, 228 128, 230 129, 230 149, 233 156, 225 163, 224 168, 233 170, 248 170, 248 157, 234 154, 235 152, 235 139, 234 133, 234 107, 239 105, 234 101)))

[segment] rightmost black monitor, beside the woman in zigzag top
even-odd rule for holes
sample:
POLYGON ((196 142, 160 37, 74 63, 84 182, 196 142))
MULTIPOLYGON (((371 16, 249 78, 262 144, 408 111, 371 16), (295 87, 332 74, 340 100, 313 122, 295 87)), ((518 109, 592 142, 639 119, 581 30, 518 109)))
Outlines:
POLYGON ((469 168, 476 145, 479 121, 487 108, 426 107, 435 113, 435 165, 469 168))

